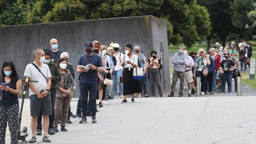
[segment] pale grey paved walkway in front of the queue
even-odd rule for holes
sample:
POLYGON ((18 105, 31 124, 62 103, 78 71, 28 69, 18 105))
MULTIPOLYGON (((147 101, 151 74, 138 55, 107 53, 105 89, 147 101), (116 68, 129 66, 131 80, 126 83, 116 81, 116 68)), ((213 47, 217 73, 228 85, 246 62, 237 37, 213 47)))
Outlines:
MULTIPOLYGON (((111 100, 97 124, 72 118, 53 144, 253 144, 256 97, 136 98, 111 100)), ((72 109, 74 112, 75 109, 72 109)), ((59 127, 60 128, 60 127, 59 127)), ((31 131, 29 130, 29 138, 31 131)), ((42 137, 37 137, 37 143, 42 137)), ((20 144, 24 142, 20 141, 20 144)))

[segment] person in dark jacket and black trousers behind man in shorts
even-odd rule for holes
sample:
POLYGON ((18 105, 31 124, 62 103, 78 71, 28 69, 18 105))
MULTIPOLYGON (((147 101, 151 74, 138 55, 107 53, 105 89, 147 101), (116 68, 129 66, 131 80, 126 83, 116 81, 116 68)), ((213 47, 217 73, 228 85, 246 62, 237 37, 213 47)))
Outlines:
MULTIPOLYGON (((51 102, 52 102, 52 114, 49 115, 49 128, 48 128, 48 134, 49 135, 54 135, 54 131, 53 131, 53 122, 54 122, 54 105, 55 105, 55 99, 56 99, 56 83, 58 83, 59 81, 61 81, 61 72, 59 70, 59 67, 56 63, 52 62, 51 59, 51 54, 50 54, 50 50, 45 49, 45 61, 44 63, 46 65, 49 66, 52 78, 52 85, 51 85, 51 89, 50 89, 50 96, 51 96, 51 102)), ((42 135, 42 115, 38 116, 37 118, 37 135, 42 135)))

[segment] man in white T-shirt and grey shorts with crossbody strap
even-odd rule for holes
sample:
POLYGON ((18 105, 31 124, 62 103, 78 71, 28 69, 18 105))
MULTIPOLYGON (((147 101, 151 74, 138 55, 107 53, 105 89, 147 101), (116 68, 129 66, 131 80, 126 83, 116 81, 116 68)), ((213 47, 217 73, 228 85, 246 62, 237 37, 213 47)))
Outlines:
POLYGON ((51 72, 49 66, 44 64, 45 52, 38 48, 33 52, 35 61, 26 66, 24 76, 37 80, 37 83, 29 83, 30 116, 32 138, 29 143, 36 142, 37 117, 43 116, 43 142, 51 142, 47 137, 49 127, 49 115, 52 114, 52 103, 50 96, 51 72))

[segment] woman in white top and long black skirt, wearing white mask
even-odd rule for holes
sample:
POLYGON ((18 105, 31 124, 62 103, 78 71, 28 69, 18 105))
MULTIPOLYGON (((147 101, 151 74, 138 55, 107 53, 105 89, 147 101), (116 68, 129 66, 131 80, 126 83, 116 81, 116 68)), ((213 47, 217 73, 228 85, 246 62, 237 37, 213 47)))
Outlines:
POLYGON ((132 102, 134 101, 135 93, 142 92, 141 81, 136 81, 133 77, 134 68, 137 67, 138 57, 132 53, 132 45, 127 44, 125 54, 121 57, 122 66, 124 66, 123 83, 124 83, 124 100, 122 103, 127 103, 127 95, 132 94, 132 102))

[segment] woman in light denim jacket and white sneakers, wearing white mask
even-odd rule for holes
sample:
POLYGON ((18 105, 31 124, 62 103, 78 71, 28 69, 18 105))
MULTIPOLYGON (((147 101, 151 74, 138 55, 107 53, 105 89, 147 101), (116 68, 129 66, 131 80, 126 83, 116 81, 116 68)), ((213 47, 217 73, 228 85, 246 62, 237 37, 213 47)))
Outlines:
MULTIPOLYGON (((111 57, 107 54, 107 46, 101 45, 100 52, 104 54, 105 58, 105 65, 104 65, 104 79, 112 79, 112 73, 114 70, 114 64, 111 57)), ((102 105, 108 105, 109 103, 106 101, 106 95, 108 92, 108 85, 104 85, 103 89, 103 96, 102 96, 102 105)))

